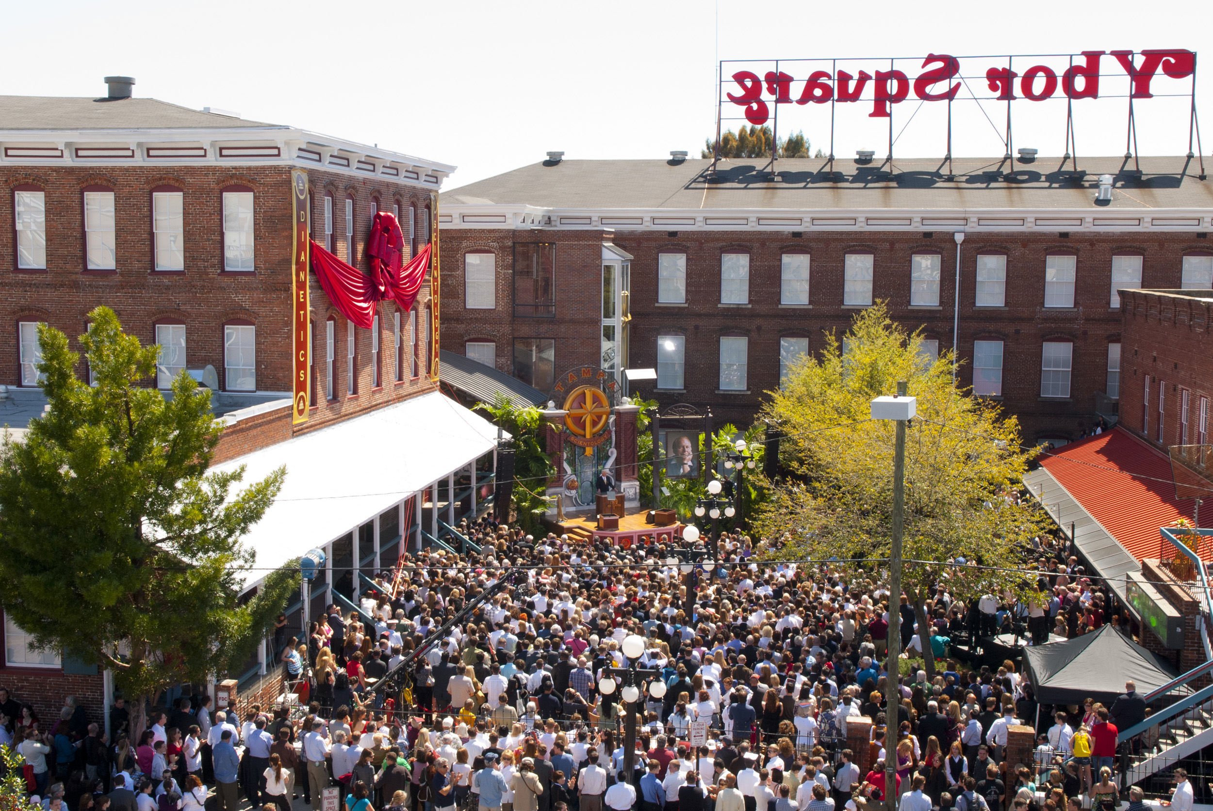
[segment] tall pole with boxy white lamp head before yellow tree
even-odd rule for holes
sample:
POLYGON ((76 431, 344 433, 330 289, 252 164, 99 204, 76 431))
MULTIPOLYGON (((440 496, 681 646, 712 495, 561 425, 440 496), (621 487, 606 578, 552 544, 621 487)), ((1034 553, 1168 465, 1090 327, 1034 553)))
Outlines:
MULTIPOLYGON (((918 411, 917 399, 906 396, 906 382, 900 381, 895 395, 872 400, 872 419, 896 422, 896 444, 893 451, 893 542, 889 549, 889 628, 885 632, 889 658, 884 680, 884 712, 889 719, 889 730, 898 729, 898 706, 901 703, 898 661, 901 657, 901 531, 905 520, 906 423, 913 419, 918 411)), ((898 811, 896 770, 898 759, 887 758, 884 803, 888 811, 898 811)))

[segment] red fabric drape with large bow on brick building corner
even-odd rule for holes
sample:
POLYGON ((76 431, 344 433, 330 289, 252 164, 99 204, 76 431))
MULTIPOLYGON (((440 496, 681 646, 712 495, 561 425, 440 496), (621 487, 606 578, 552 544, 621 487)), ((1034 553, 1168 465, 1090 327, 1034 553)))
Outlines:
POLYGON ((426 245, 408 264, 400 265, 404 238, 395 217, 375 215, 366 253, 371 257, 371 275, 351 267, 312 240, 312 270, 324 292, 342 315, 364 330, 375 325, 375 302, 391 298, 402 312, 412 309, 429 265, 426 245))

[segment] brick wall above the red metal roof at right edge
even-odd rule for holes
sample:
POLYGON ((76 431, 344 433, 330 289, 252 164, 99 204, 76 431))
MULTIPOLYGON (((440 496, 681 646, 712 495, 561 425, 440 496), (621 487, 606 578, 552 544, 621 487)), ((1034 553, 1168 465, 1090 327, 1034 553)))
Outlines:
POLYGON ((1184 444, 1180 409, 1183 390, 1188 389, 1191 394, 1186 444, 1197 444, 1200 399, 1213 399, 1213 338, 1209 337, 1213 305, 1194 298, 1150 292, 1128 293, 1121 301, 1120 424, 1155 446, 1184 444), (1141 411, 1146 407, 1144 384, 1147 375, 1150 422, 1149 430, 1143 434, 1141 411), (1162 442, 1158 442, 1158 381, 1166 387, 1162 442))

